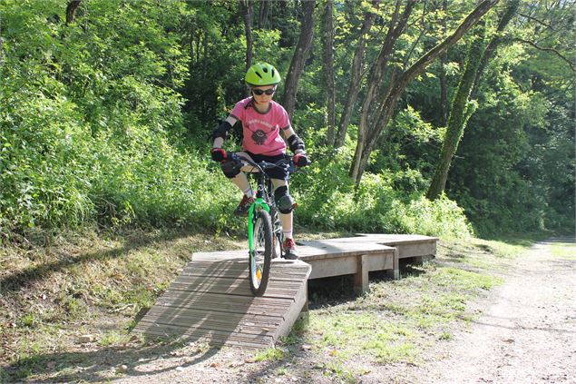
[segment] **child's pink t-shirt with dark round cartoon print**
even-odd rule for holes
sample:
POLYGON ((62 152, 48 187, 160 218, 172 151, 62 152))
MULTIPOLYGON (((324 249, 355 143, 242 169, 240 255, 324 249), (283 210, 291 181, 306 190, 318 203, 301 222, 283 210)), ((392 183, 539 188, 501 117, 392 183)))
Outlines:
POLYGON ((268 112, 259 113, 251 102, 251 97, 240 100, 231 113, 242 122, 244 150, 268 156, 286 153, 286 143, 280 136, 280 130, 290 126, 290 119, 284 107, 271 101, 268 112))

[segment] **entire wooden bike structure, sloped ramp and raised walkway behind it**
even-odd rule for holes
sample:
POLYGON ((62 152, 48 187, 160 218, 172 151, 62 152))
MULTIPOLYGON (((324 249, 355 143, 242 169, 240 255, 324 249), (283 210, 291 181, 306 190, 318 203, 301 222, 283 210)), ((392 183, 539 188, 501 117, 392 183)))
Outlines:
POLYGON ((302 241, 298 243, 299 261, 272 262, 262 297, 254 297, 249 290, 247 251, 194 253, 134 331, 210 346, 271 347, 308 310, 308 280, 351 274, 354 290, 361 294, 368 290, 369 271, 386 271, 398 279, 399 261, 421 262, 434 256, 437 240, 370 233, 302 241))

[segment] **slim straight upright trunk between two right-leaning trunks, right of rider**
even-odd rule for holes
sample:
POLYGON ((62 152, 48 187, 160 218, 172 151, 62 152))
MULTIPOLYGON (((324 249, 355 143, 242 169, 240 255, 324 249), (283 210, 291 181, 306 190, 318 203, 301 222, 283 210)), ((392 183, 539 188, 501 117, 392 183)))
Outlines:
POLYGON ((334 146, 336 114, 334 111, 334 0, 327 0, 324 18, 326 41, 324 44, 324 63, 326 64, 328 131, 327 146, 334 146))

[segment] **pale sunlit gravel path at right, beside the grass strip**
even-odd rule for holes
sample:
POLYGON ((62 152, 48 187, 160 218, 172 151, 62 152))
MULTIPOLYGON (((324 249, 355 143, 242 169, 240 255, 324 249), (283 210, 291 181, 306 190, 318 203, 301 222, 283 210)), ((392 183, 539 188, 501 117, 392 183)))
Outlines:
POLYGON ((538 243, 515 261, 472 329, 443 346, 448 357, 410 381, 576 383, 576 254, 553 255, 556 241, 569 240, 538 243))

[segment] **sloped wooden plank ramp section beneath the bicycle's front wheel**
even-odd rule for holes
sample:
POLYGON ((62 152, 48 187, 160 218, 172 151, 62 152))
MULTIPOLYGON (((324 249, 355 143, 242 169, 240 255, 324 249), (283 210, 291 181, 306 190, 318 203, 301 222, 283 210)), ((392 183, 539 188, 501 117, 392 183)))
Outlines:
POLYGON ((242 258, 190 261, 134 331, 210 346, 271 347, 305 307, 310 271, 302 261, 272 261, 266 293, 254 297, 246 251, 242 258))

